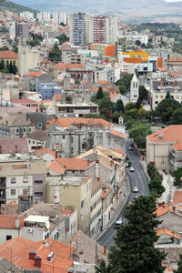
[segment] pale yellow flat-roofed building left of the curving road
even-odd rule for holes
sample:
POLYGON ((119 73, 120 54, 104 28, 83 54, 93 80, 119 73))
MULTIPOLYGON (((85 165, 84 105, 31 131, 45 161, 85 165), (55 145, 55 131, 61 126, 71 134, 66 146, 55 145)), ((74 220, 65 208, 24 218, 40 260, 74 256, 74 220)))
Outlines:
POLYGON ((91 177, 47 177, 46 202, 77 209, 77 228, 90 233, 91 177))

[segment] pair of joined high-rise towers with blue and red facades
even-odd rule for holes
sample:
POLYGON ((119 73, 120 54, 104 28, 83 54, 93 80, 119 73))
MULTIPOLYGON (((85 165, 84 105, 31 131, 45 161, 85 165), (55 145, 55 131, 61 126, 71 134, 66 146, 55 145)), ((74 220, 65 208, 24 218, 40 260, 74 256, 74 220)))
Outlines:
POLYGON ((75 13, 69 16, 69 26, 70 42, 74 45, 116 42, 116 16, 75 13))

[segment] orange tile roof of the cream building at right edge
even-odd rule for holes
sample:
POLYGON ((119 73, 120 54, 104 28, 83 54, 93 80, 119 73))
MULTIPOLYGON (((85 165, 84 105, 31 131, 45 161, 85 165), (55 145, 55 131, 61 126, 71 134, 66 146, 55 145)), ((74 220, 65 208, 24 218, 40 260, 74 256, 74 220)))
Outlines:
POLYGON ((150 142, 182 142, 182 125, 167 126, 147 138, 150 142))

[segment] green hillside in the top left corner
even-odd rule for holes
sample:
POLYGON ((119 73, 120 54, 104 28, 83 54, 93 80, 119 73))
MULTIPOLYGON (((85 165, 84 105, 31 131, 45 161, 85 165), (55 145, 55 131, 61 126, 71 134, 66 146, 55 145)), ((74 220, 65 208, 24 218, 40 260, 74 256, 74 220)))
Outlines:
POLYGON ((0 10, 1 11, 7 10, 7 11, 14 12, 16 14, 19 14, 24 11, 29 11, 34 14, 36 13, 36 11, 30 7, 26 7, 24 5, 18 5, 8 0, 0 0, 0 10))

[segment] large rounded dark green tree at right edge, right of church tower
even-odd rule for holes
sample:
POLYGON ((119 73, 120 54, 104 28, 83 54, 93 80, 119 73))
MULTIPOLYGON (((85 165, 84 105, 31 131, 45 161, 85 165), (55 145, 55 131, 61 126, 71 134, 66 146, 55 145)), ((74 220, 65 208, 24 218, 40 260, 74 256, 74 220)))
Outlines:
POLYGON ((163 122, 167 123, 177 108, 181 108, 181 105, 175 99, 165 98, 157 105, 156 115, 162 117, 163 122))

